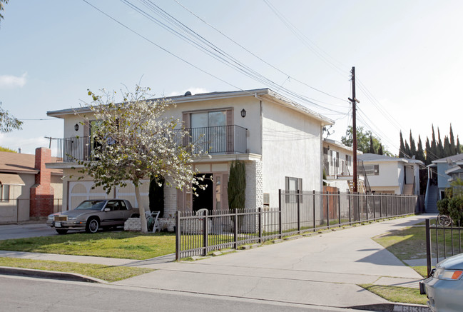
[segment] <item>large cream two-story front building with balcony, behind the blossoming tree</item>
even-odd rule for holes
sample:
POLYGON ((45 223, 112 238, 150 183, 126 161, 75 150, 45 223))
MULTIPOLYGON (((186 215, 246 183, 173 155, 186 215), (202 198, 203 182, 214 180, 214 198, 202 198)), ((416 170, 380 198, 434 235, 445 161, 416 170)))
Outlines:
MULTIPOLYGON (((165 188, 165 214, 228 208, 228 175, 231 161, 245 162, 245 208, 278 206, 278 189, 322 189, 322 129, 333 124, 325 116, 310 111, 270 89, 213 92, 173 96, 176 105, 166 116, 183 121, 193 138, 209 144, 210 156, 196 158, 195 169, 205 174, 208 188, 190 192, 165 188)), ((78 166, 66 154, 80 159, 88 156, 91 126, 82 126, 79 114, 88 108, 49 111, 64 120, 65 139, 58 140, 61 163, 47 168, 63 170, 63 207, 75 208, 83 199, 106 197, 102 188, 92 189, 89 177, 78 180, 78 166), (71 177, 72 176, 72 177, 71 177)), ((143 203, 136 203, 133 186, 116 188, 108 196, 125 198, 133 206, 148 206, 148 181, 141 186, 143 203)))

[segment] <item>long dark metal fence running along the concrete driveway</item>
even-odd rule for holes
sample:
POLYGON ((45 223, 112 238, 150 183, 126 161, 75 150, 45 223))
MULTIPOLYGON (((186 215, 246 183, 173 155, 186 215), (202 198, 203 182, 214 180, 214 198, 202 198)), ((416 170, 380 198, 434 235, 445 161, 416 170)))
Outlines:
POLYGON ((415 213, 417 196, 279 191, 278 207, 177 211, 175 257, 415 213))

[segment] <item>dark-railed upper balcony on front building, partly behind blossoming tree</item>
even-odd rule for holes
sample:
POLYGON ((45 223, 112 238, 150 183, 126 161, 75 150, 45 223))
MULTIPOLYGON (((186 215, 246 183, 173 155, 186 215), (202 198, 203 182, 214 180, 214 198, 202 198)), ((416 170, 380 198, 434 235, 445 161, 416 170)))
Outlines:
MULTIPOLYGON (((247 130, 241 126, 213 126, 204 128, 185 129, 190 136, 185 138, 182 131, 174 131, 177 144, 193 142, 196 152, 202 150, 208 154, 245 154, 247 149, 247 130)), ((91 150, 98 146, 88 136, 54 139, 56 141, 56 157, 58 162, 71 163, 76 161, 90 161, 91 150)))

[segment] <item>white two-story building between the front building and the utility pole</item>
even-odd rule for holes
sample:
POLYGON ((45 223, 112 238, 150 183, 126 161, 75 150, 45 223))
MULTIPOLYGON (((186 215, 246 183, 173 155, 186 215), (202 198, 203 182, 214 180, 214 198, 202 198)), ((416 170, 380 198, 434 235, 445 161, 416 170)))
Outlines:
MULTIPOLYGON (((357 155, 362 154, 357 151, 357 155)), ((323 169, 325 171, 325 183, 339 188, 339 191, 352 191, 353 163, 352 147, 331 139, 323 139, 323 169)), ((362 177, 359 185, 363 183, 362 177)), ((362 189, 362 187, 360 187, 362 189)))

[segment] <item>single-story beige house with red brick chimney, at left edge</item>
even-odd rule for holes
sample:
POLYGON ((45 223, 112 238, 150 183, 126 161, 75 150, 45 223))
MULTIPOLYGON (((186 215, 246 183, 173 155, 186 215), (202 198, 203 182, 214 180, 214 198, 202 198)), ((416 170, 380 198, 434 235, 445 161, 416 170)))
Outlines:
POLYGON ((61 208, 63 172, 45 167, 52 161, 45 148, 35 155, 0 151, 0 223, 44 218, 61 208))

